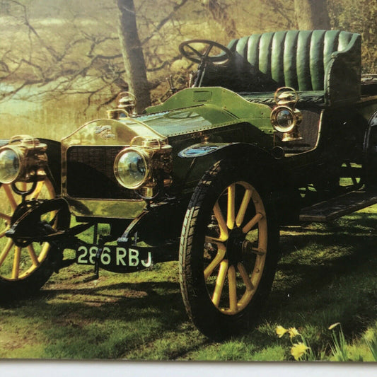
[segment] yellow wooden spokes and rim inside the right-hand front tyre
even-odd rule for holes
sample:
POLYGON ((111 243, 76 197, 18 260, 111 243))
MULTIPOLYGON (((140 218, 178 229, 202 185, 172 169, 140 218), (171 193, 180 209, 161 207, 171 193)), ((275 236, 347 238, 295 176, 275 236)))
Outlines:
POLYGON ((211 301, 222 313, 235 315, 253 298, 267 253, 265 207, 250 183, 226 187, 212 209, 204 241, 204 280, 211 301), (238 205, 236 196, 242 197, 238 205))

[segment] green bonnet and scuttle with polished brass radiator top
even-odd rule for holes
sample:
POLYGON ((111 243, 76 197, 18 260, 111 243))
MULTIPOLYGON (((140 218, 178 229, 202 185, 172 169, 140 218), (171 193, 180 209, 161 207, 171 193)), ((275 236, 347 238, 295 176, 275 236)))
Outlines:
POLYGON ((248 103, 224 88, 185 89, 162 105, 146 109, 144 115, 119 120, 94 120, 62 139, 63 148, 72 145, 129 145, 134 137, 166 140, 179 135, 249 122, 272 131, 270 108, 248 103))

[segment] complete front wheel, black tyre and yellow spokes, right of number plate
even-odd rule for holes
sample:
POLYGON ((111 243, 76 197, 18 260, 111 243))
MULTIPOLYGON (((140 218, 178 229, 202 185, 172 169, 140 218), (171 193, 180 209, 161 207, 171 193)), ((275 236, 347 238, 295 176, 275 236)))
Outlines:
POLYGON ((214 340, 255 323, 277 265, 279 229, 267 188, 248 171, 216 163, 199 182, 182 228, 183 301, 214 340))

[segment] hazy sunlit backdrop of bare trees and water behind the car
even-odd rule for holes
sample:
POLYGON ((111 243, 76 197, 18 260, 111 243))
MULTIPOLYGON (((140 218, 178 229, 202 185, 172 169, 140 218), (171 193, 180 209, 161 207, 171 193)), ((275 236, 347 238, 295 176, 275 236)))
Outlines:
MULTIPOLYGON (((170 95, 167 76, 173 74, 175 86, 183 88, 195 69, 180 57, 183 40, 202 37, 227 45, 253 33, 328 28, 326 6, 332 29, 361 34, 363 71, 377 73, 377 0, 133 2, 152 104, 170 95), (304 25, 304 18, 322 21, 304 25)), ((118 0, 0 0, 3 137, 38 129, 39 135, 60 139, 105 116, 117 94, 132 88, 118 18, 118 0)))

